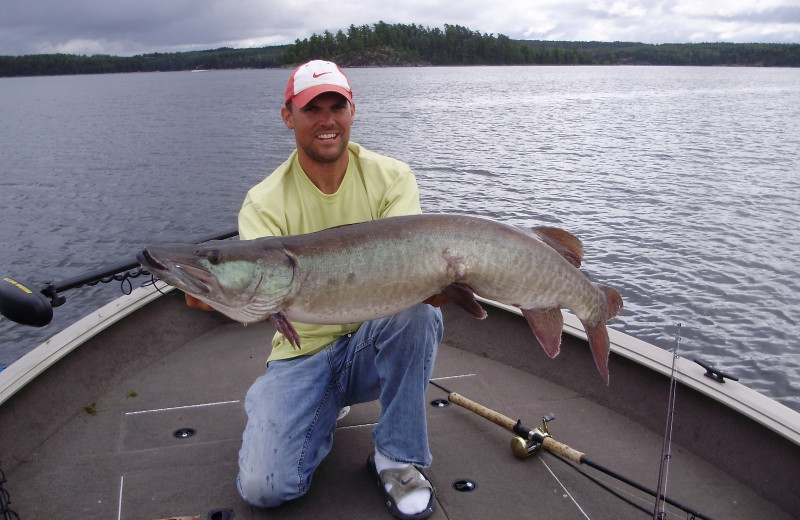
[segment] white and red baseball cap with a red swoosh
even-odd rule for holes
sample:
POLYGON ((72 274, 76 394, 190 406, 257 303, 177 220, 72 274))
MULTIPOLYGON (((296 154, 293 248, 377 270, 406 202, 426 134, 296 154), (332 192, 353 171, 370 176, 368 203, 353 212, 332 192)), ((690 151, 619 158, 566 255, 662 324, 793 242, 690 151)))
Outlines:
POLYGON ((353 100, 353 90, 342 69, 333 62, 314 60, 294 69, 286 84, 286 104, 302 108, 323 92, 337 92, 353 100))

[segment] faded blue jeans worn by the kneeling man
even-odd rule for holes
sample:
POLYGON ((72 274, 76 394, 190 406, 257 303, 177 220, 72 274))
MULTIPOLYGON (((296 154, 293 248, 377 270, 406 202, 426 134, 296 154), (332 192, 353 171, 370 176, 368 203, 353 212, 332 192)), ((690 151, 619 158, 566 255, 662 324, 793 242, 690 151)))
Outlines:
POLYGON ((333 445, 347 405, 381 403, 372 437, 397 462, 427 467, 425 390, 444 327, 439 309, 421 303, 365 322, 324 350, 272 361, 247 392, 239 451, 239 494, 276 507, 305 494, 333 445))

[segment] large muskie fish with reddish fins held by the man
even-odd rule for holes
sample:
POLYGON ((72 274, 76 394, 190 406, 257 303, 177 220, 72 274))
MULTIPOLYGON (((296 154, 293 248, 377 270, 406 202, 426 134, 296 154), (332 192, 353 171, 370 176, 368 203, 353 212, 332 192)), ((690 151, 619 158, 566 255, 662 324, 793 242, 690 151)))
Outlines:
POLYGON ((522 310, 550 357, 561 308, 586 330, 608 384, 606 321, 617 291, 578 269, 580 241, 461 215, 390 217, 310 233, 199 245, 152 245, 138 254, 153 275, 242 323, 270 319, 297 346, 292 321, 341 324, 388 316, 441 294, 477 318, 474 294, 522 310), (474 293, 474 294, 473 294, 474 293))

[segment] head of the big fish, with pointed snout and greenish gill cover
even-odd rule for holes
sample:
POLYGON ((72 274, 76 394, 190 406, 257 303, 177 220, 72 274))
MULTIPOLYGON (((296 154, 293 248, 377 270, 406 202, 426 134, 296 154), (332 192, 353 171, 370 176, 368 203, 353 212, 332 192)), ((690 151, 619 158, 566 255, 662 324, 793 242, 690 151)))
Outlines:
POLYGON ((242 323, 280 312, 295 292, 294 259, 269 239, 154 244, 137 257, 156 278, 242 323))

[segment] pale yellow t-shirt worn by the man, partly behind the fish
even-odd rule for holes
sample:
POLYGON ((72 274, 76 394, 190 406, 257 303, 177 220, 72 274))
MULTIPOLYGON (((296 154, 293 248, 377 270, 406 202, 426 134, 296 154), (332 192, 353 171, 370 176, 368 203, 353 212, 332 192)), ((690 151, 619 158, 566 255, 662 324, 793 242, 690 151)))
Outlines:
MULTIPOLYGON (((322 193, 306 176, 297 151, 269 177, 247 192, 239 211, 239 238, 313 233, 335 226, 384 217, 421 213, 411 168, 396 159, 348 144, 350 160, 339 190, 322 193)), ((313 325, 292 323, 300 335, 294 349, 280 333, 272 339, 269 361, 319 352, 360 323, 313 325)))

